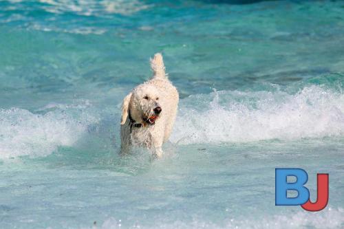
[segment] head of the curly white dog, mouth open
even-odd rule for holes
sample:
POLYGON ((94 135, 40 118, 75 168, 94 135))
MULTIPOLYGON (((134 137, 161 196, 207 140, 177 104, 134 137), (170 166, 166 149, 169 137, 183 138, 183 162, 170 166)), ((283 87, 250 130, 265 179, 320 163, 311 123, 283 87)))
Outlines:
POLYGON ((159 99, 159 91, 153 85, 139 85, 123 100, 120 124, 125 124, 129 113, 133 120, 143 126, 155 124, 162 112, 159 99))

